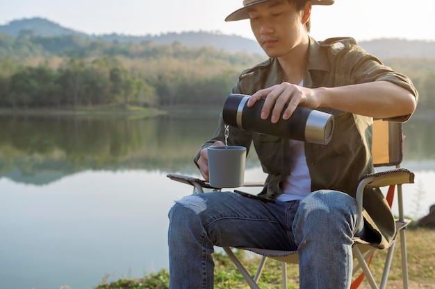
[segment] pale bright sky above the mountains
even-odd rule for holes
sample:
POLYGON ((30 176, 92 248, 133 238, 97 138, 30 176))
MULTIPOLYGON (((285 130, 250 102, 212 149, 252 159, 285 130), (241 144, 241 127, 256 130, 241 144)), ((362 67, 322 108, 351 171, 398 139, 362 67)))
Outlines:
MULTIPOLYGON (((249 20, 225 22, 242 0, 0 0, 0 25, 43 17, 80 32, 160 35, 208 31, 254 39, 249 20)), ((311 35, 317 40, 351 36, 435 41, 433 0, 336 0, 313 6, 311 35)))

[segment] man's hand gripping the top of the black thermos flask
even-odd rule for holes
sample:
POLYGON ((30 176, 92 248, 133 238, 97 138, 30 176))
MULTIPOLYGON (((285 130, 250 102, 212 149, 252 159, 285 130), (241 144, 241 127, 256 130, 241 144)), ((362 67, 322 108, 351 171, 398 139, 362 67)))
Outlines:
POLYGON ((299 85, 293 85, 288 82, 258 90, 249 98, 247 106, 252 107, 256 103, 256 100, 261 98, 265 98, 263 109, 261 110, 261 119, 268 119, 270 113, 272 113, 270 118, 272 123, 279 121, 283 111, 282 118, 290 119, 290 116, 298 105, 313 109, 320 106, 320 100, 315 96, 314 89, 299 87, 299 85))

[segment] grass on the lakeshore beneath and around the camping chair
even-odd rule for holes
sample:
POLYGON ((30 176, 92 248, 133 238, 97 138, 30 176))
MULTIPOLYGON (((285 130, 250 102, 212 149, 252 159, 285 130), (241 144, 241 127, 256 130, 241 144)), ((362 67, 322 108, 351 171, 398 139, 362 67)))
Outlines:
MULTIPOLYGON (((409 288, 435 288, 435 230, 416 227, 407 229, 407 244, 409 288)), ((236 252, 236 255, 245 260, 244 264, 247 265, 249 272, 255 272, 259 260, 258 256, 252 257, 240 250, 236 252)), ((375 280, 378 282, 381 279, 385 257, 386 250, 377 251, 370 265, 375 280)), ((243 281, 242 275, 224 253, 215 253, 213 259, 215 261, 215 288, 249 289, 249 286, 243 281)), ((400 238, 397 238, 393 265, 387 283, 388 289, 402 288, 400 259, 400 238)), ((288 264, 287 276, 288 289, 299 288, 297 265, 288 264)), ((281 264, 269 259, 259 286, 265 289, 281 288, 280 282, 281 264)), ((168 284, 169 272, 163 269, 140 279, 120 279, 111 283, 104 279, 96 289, 167 289, 169 288, 168 284)), ((359 288, 370 288, 366 279, 359 288)))

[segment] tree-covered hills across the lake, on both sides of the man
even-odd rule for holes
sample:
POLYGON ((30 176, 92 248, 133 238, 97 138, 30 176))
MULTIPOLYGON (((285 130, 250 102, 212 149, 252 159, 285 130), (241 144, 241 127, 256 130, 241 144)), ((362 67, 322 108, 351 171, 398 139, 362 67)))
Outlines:
MULTIPOLYGON (((47 21, 44 24, 49 27, 47 21)), ((60 26, 51 29, 61 35, 30 29, 19 30, 16 36, 0 33, 0 107, 221 105, 238 73, 265 60, 265 55, 247 49, 229 52, 181 41, 106 41, 65 34, 60 26)), ((222 35, 222 40, 226 37, 222 35)), ((404 42, 379 42, 390 43, 390 49, 384 49, 389 57, 379 56, 382 45, 367 50, 377 49, 379 53, 372 53, 413 80, 420 107, 435 108, 435 57, 404 54, 411 47, 404 42), (396 50, 391 48, 395 46, 396 50)), ((424 55, 435 50, 431 42, 420 44, 413 49, 420 47, 424 55)))

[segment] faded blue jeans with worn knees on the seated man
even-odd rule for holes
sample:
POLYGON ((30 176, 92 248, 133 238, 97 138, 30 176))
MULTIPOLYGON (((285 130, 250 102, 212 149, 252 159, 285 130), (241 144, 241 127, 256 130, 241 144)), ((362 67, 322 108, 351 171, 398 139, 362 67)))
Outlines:
POLYGON ((169 218, 170 289, 213 288, 213 246, 297 250, 300 288, 350 288, 356 200, 345 193, 275 203, 203 193, 177 201, 169 218))

